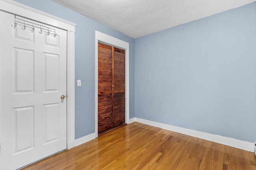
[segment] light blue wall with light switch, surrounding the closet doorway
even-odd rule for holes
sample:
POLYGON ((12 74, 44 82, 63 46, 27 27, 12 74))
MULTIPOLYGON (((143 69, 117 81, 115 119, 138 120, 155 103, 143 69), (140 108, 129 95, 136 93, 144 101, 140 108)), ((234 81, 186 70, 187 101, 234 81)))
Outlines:
POLYGON ((16 1, 77 24, 75 32, 75 80, 81 80, 82 86, 75 88, 76 139, 95 132, 95 30, 129 43, 130 118, 134 117, 134 38, 86 18, 51 0, 16 1))

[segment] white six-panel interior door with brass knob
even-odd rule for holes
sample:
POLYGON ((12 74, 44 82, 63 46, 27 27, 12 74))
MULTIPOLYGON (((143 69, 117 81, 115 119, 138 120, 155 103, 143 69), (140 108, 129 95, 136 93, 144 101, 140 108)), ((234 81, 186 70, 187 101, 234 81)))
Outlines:
POLYGON ((0 11, 1 170, 26 166, 67 144, 66 98, 60 98, 67 91, 67 33, 32 33, 13 22, 14 15, 0 11))

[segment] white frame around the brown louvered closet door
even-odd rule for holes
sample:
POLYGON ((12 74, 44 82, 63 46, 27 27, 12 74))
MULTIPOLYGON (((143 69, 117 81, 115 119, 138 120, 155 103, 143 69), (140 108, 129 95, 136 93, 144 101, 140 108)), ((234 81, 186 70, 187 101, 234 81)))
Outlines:
POLYGON ((129 43, 95 31, 95 137, 98 137, 98 43, 125 50, 125 123, 129 124, 129 43))

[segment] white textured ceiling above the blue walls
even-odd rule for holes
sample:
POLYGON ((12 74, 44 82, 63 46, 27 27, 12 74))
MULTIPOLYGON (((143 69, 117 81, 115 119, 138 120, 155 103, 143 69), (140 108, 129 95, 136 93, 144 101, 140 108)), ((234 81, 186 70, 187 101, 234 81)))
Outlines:
POLYGON ((256 0, 53 0, 133 38, 256 0))

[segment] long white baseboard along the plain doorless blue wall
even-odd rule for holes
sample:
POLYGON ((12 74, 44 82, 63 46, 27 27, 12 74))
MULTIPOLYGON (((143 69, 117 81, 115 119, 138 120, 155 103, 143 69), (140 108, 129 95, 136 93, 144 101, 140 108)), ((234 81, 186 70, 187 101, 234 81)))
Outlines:
POLYGON ((220 135, 214 135, 214 134, 210 134, 210 133, 206 133, 206 132, 195 131, 195 130, 177 127, 177 126, 173 126, 173 125, 167 125, 164 123, 158 123, 155 121, 140 119, 140 118, 136 118, 136 117, 134 117, 134 121, 143 123, 146 125, 154 126, 154 127, 160 127, 162 129, 166 129, 169 131, 182 133, 184 135, 189 135, 189 136, 197 137, 200 139, 205 139, 207 141, 220 143, 220 144, 227 145, 230 147, 235 147, 235 148, 247 150, 250 152, 256 152, 254 143, 240 141, 238 139, 234 139, 234 138, 230 138, 230 137, 223 137, 220 135))

